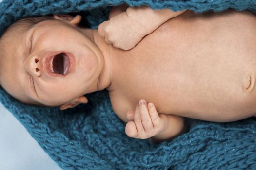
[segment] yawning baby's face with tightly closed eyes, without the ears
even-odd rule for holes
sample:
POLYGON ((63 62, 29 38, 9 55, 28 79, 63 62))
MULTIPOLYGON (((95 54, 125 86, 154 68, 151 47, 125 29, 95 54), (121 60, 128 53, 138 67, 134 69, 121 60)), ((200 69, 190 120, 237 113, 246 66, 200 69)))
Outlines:
POLYGON ((58 106, 90 92, 103 56, 76 25, 45 20, 16 29, 3 42, 0 82, 9 94, 26 103, 58 106))

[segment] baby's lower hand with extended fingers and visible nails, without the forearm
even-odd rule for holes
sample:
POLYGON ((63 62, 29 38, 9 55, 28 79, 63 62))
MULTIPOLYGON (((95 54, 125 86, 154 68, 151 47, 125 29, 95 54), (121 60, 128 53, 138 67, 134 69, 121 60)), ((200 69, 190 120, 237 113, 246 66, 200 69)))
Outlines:
POLYGON ((153 103, 147 104, 140 100, 135 112, 127 112, 129 122, 126 124, 125 133, 129 137, 146 139, 156 136, 167 129, 168 118, 165 114, 158 114, 153 103))

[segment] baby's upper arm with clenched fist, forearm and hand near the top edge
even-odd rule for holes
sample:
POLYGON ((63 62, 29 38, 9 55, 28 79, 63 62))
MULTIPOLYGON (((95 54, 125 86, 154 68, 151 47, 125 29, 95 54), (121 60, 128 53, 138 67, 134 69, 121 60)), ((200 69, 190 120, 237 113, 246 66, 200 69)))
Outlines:
POLYGON ((108 44, 123 50, 132 49, 145 35, 152 33, 164 22, 185 11, 153 10, 147 6, 128 8, 122 6, 122 10, 124 12, 119 10, 119 14, 102 22, 98 26, 98 34, 105 37, 108 44))

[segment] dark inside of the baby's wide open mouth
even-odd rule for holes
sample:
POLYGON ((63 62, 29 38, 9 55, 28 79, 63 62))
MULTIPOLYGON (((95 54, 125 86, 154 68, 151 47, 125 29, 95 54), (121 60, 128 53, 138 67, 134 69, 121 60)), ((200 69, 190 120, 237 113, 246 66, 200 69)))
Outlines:
POLYGON ((55 55, 53 58, 53 71, 56 74, 66 75, 69 68, 68 56, 65 53, 55 55))

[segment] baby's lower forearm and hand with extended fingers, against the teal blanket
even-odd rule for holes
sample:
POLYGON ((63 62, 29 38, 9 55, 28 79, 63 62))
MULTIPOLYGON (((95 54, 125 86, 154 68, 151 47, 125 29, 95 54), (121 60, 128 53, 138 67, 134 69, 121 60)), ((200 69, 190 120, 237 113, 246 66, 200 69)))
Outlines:
POLYGON ((125 132, 128 136, 146 139, 153 142, 170 140, 184 131, 184 118, 157 112, 153 103, 152 107, 145 100, 140 100, 135 112, 129 110, 125 132))

